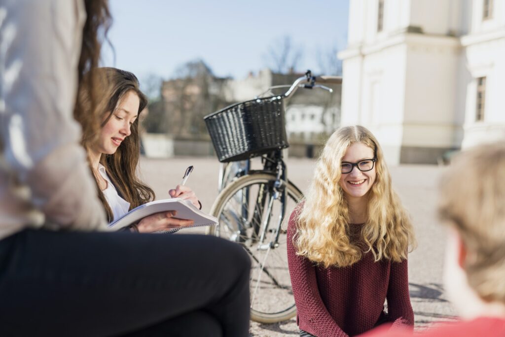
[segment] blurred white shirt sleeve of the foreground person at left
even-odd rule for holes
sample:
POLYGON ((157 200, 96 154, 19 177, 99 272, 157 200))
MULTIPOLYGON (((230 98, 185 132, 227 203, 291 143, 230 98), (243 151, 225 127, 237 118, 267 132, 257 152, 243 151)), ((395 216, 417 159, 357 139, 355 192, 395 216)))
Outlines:
POLYGON ((0 5, 0 227, 107 228, 73 119, 85 15, 81 0, 0 5))

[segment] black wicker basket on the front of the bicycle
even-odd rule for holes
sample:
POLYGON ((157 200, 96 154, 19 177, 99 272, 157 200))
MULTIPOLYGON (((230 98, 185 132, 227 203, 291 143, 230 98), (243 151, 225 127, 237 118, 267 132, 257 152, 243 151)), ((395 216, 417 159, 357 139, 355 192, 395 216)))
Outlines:
POLYGON ((221 162, 244 160, 289 146, 282 96, 233 104, 204 119, 221 162))

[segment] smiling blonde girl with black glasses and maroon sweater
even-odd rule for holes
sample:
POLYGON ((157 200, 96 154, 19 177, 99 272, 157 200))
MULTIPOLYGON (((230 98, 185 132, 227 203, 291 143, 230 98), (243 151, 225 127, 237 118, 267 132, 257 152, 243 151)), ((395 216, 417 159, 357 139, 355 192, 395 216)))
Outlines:
POLYGON ((407 254, 414 245, 377 139, 362 126, 335 131, 288 224, 300 336, 352 336, 385 322, 412 329, 407 254))

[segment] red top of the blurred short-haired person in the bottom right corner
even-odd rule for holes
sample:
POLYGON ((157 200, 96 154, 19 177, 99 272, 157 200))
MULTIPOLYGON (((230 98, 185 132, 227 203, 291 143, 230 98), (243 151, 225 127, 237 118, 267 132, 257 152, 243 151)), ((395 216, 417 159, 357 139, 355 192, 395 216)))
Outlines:
POLYGON ((503 337, 505 336, 505 319, 479 317, 471 321, 439 323, 418 333, 412 331, 395 331, 391 333, 387 326, 381 326, 360 337, 503 337))

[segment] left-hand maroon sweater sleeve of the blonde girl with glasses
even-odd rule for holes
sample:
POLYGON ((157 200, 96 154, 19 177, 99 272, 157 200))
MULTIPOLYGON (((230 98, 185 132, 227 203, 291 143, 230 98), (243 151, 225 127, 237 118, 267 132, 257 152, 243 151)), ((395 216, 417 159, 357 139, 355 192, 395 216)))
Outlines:
MULTIPOLYGON (((337 325, 324 305, 316 280, 313 263, 307 258, 296 255, 293 237, 296 233, 295 218, 302 206, 298 206, 289 218, 287 228, 287 258, 291 286, 296 303, 298 317, 304 317, 312 334, 318 337, 344 337, 347 334, 337 325)), ((302 328, 300 326, 300 328, 302 328)))

